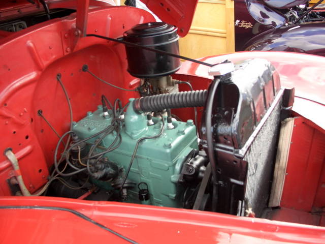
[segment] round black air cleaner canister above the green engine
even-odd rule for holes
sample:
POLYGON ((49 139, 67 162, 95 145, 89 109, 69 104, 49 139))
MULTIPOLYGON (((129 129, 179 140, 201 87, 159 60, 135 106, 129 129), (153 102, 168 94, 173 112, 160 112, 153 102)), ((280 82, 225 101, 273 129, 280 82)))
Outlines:
MULTIPOLYGON (((177 27, 164 22, 137 24, 124 32, 123 38, 142 46, 179 54, 177 27)), ((174 74, 181 66, 179 58, 125 45, 132 76, 153 78, 174 74)))

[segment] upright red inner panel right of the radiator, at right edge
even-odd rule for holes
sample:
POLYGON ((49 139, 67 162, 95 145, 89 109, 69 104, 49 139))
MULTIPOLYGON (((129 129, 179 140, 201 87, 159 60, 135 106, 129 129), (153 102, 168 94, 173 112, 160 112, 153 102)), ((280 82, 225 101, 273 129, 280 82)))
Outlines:
MULTIPOLYGON (((280 206, 311 211, 325 156, 325 135, 308 126, 306 119, 295 119, 286 169, 286 177, 280 206)), ((320 182, 319 182, 320 181, 320 182)), ((320 185, 320 186, 319 186, 320 185)), ((325 195, 318 195, 318 203, 324 203, 325 195)))

